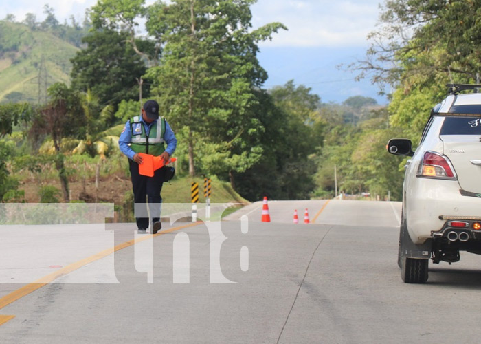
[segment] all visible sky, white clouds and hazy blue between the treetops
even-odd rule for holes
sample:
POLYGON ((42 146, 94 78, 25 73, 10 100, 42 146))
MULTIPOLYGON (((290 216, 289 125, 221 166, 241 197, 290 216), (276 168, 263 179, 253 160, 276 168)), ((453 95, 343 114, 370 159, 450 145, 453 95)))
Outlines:
MULTIPOLYGON (((289 28, 260 44, 258 58, 269 74, 265 87, 292 79, 295 85, 311 87, 324 103, 342 103, 357 95, 388 103, 377 94, 376 85, 369 80, 355 82, 355 73, 338 67, 365 56, 370 45, 366 36, 375 29, 379 2, 383 0, 258 0, 251 8, 254 28, 273 21, 289 28)), ((43 20, 45 3, 63 22, 72 15, 81 20, 96 0, 0 0, 0 18, 14 14, 21 21, 30 12, 43 20)))

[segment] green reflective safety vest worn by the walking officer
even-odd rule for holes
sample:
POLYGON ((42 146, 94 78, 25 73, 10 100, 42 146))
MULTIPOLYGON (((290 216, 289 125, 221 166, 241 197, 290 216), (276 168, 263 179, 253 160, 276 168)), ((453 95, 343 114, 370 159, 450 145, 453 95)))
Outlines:
POLYGON ((157 119, 156 125, 150 127, 148 136, 146 135, 144 122, 140 116, 134 116, 131 122, 131 149, 135 153, 147 153, 155 156, 161 155, 165 151, 164 133, 166 132, 166 120, 163 117, 157 119))

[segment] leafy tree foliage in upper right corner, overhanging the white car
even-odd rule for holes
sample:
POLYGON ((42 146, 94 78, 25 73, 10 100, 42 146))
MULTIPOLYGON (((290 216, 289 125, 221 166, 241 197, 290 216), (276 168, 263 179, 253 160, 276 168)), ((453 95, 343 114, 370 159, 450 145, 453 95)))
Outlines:
POLYGON ((479 83, 480 0, 389 0, 365 61, 355 66, 394 88, 392 125, 419 138, 447 83, 479 83))

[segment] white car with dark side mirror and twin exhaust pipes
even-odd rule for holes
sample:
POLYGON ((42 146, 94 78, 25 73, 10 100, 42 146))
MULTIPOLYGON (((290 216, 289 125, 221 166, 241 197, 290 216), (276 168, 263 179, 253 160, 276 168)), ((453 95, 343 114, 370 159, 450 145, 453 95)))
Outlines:
POLYGON ((429 258, 451 264, 460 251, 481 254, 481 94, 479 85, 448 85, 432 109, 421 142, 392 139, 388 151, 412 156, 403 184, 399 236, 401 277, 425 283, 429 258))

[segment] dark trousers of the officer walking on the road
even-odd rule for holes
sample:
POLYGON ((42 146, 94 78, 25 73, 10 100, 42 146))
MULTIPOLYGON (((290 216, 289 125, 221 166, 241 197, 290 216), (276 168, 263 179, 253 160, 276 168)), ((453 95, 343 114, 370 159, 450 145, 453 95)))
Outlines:
POLYGON ((164 184, 164 173, 166 169, 162 167, 154 171, 153 177, 146 177, 139 174, 139 164, 128 159, 129 169, 131 170, 133 200, 135 203, 135 219, 137 221, 137 228, 148 228, 148 215, 146 199, 148 200, 148 210, 152 222, 160 219, 160 206, 162 197, 160 191, 162 184, 164 184))

